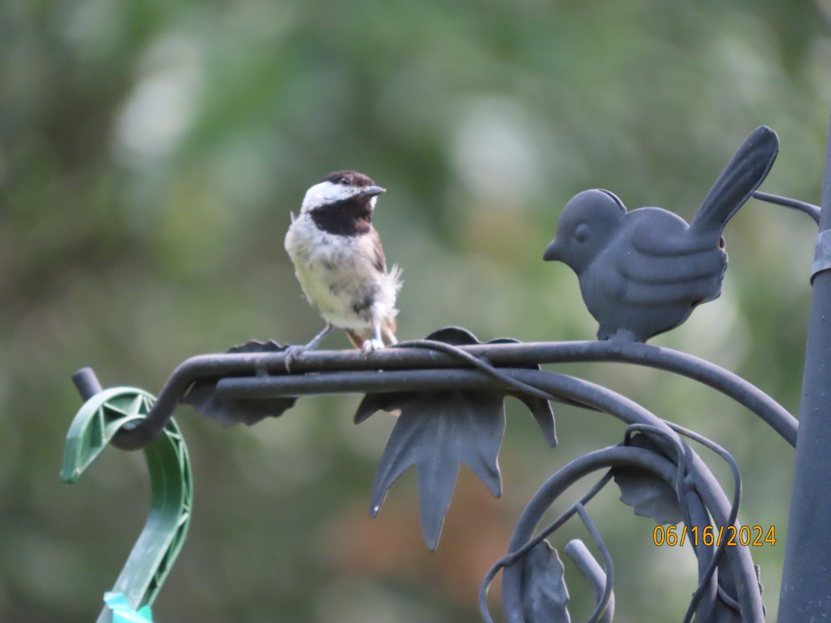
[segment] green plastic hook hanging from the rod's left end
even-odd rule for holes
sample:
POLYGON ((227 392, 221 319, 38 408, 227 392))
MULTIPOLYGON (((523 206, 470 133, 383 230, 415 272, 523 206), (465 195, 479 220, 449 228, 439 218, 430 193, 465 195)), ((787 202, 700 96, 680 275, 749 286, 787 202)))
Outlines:
MULTIPOLYGON (((88 375, 95 380, 91 370, 88 375)), ((153 395, 134 387, 91 393, 66 434, 61 479, 76 483, 118 429, 130 421, 145 418, 154 402, 153 395)), ((144 451, 150 470, 150 515, 112 587, 136 611, 152 605, 159 594, 184 543, 193 502, 188 450, 173 419, 144 451)), ((106 606, 97 623, 112 620, 113 611, 106 606)))

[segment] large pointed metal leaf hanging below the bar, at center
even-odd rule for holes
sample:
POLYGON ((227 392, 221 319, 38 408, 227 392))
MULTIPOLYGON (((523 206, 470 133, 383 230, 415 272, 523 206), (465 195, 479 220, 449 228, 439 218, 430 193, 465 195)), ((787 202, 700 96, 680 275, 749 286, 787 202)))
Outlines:
POLYGON ((387 490, 416 465, 421 531, 430 551, 438 545, 445 513, 464 463, 494 496, 502 494, 497 455, 505 432, 502 395, 497 392, 431 392, 396 395, 401 409, 381 454, 372 488, 376 517, 387 490))

